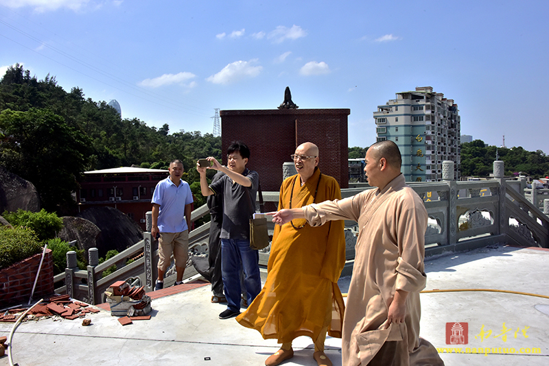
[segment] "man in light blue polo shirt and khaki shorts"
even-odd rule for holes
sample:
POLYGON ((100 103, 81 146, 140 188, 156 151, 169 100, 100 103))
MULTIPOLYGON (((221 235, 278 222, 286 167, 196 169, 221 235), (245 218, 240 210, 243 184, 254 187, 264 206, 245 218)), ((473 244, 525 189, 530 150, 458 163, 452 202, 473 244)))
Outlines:
POLYGON ((156 184, 152 195, 153 238, 159 234, 159 277, 154 290, 164 288, 164 274, 172 263, 172 253, 176 263, 176 284, 183 282, 189 252, 189 228, 191 227, 191 207, 193 195, 189 184, 181 180, 183 163, 170 162, 170 176, 156 184))

